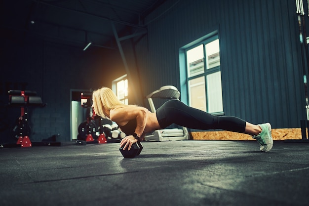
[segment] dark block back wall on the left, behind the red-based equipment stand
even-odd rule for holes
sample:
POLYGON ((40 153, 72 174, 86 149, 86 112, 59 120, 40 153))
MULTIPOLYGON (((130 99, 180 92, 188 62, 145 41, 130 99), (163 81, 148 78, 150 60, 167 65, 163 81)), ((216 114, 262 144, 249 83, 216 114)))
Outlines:
POLYGON ((31 141, 40 142, 60 134, 57 140, 67 142, 71 141, 70 90, 111 87, 114 79, 125 74, 117 61, 111 64, 105 61, 108 55, 117 58, 117 51, 105 54, 105 50, 95 47, 83 51, 33 38, 25 38, 22 43, 6 41, 3 48, 6 52, 0 56, 1 72, 3 70, 0 76, 0 123, 3 125, 0 143, 16 141, 11 128, 20 116, 20 109, 4 107, 8 103, 9 89, 37 91, 46 103, 44 108, 29 108, 31 141))

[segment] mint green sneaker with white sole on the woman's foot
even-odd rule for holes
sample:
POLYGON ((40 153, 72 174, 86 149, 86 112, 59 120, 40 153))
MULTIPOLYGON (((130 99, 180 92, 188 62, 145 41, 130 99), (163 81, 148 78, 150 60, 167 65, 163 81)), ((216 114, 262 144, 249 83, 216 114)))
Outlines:
POLYGON ((271 150, 273 141, 271 137, 271 125, 269 123, 258 124, 262 128, 262 132, 259 135, 255 135, 252 138, 256 139, 260 146, 260 151, 268 152, 271 150))

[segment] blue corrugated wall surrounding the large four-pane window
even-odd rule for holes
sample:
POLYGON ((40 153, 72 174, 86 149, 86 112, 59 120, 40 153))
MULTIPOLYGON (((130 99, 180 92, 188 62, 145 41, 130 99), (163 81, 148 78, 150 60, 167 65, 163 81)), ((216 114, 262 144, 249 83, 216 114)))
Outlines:
POLYGON ((274 128, 300 127, 305 95, 294 0, 168 0, 136 42, 144 96, 181 89, 179 49, 215 30, 220 39, 225 115, 274 128))

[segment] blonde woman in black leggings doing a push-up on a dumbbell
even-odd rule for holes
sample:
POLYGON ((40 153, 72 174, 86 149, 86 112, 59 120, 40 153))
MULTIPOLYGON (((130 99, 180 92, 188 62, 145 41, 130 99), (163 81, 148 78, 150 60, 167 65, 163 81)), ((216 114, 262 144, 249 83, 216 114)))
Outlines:
POLYGON ((236 117, 213 116, 179 100, 165 102, 155 113, 144 107, 123 104, 107 87, 93 91, 92 100, 95 113, 116 122, 127 135, 120 142, 123 150, 130 150, 133 143, 144 139, 145 134, 173 123, 192 129, 224 129, 250 134, 259 142, 262 152, 270 151, 273 145, 269 123, 256 125, 236 117))

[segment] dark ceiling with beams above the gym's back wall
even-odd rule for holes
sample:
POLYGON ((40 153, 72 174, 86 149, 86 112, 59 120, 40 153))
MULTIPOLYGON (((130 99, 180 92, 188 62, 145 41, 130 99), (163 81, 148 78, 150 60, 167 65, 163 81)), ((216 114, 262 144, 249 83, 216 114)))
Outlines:
POLYGON ((145 17, 164 1, 2 0, 1 31, 7 39, 116 49, 117 40, 145 35, 145 17))

